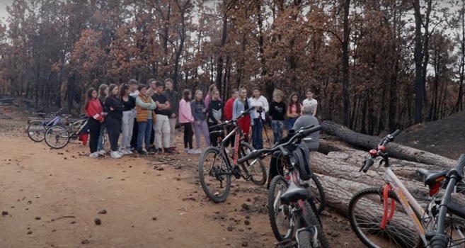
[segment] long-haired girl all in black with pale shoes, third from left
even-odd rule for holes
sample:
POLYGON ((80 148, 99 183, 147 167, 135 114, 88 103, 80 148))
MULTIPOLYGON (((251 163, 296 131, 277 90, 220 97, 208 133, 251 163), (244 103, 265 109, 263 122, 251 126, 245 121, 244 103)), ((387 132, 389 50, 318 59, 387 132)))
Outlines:
POLYGON ((120 138, 122 124, 122 111, 125 111, 125 106, 117 98, 119 91, 120 89, 116 84, 110 84, 108 86, 108 95, 105 98, 105 105, 108 106, 108 115, 105 119, 111 147, 110 156, 114 159, 119 159, 122 156, 122 153, 118 152, 118 139, 120 138))

